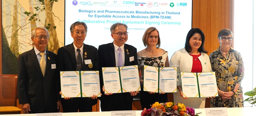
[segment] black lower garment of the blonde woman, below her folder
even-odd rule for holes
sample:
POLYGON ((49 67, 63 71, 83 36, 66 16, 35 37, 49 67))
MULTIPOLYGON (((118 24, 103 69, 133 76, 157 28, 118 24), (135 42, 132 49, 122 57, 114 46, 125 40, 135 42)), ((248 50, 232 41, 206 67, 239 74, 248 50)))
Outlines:
POLYGON ((159 93, 150 94, 148 91, 140 91, 140 105, 142 110, 144 108, 151 108, 150 105, 154 104, 155 102, 165 103, 167 101, 167 93, 159 95, 159 93))

